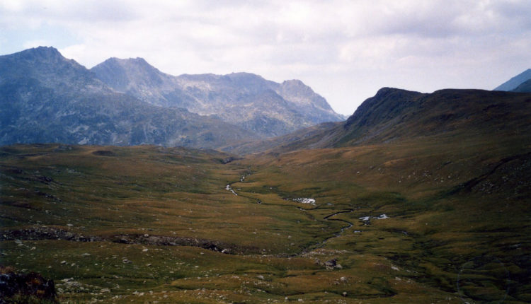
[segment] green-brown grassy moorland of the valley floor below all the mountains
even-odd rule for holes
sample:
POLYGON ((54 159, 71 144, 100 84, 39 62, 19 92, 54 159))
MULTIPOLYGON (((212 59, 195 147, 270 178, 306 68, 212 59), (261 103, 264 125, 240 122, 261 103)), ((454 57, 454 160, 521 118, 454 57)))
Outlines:
POLYGON ((445 134, 227 164, 152 146, 4 147, 4 235, 45 225, 102 241, 3 240, 1 263, 55 279, 66 303, 525 303, 529 142, 445 134), (297 197, 316 205, 286 200, 297 197), (235 254, 110 242, 124 234, 235 254))

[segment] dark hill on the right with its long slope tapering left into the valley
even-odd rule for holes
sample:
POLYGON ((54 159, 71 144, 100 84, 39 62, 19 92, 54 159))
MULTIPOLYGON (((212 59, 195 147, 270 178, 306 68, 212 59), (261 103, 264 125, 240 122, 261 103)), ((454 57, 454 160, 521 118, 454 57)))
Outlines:
POLYGON ((445 89, 418 93, 382 88, 344 124, 321 124, 227 151, 276 152, 402 141, 426 136, 511 136, 531 131, 531 94, 445 89), (275 146, 276 145, 276 146, 275 146), (273 148, 274 146, 274 148, 273 148))

